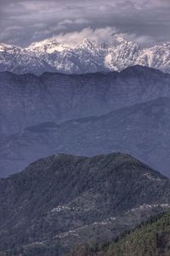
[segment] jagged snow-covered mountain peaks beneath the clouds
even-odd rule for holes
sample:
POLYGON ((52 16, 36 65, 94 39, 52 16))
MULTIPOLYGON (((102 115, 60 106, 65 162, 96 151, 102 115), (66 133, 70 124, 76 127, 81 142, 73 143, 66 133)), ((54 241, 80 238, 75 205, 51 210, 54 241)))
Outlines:
POLYGON ((114 35, 108 44, 85 38, 80 44, 61 44, 57 38, 31 44, 26 49, 0 44, 0 71, 41 74, 122 71, 142 65, 170 73, 170 43, 141 49, 139 44, 114 35))

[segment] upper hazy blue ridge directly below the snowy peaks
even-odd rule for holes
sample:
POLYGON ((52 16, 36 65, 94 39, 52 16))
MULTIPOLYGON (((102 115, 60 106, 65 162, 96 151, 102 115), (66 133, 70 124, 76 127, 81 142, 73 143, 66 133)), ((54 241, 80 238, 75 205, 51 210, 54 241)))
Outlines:
POLYGON ((0 132, 101 115, 160 96, 170 96, 170 75, 147 67, 128 67, 122 73, 44 73, 40 77, 0 73, 0 132))

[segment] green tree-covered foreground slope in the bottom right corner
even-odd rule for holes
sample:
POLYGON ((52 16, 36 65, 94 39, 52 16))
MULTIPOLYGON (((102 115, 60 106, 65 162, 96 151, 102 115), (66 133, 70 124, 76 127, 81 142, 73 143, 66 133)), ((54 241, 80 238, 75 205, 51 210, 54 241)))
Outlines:
POLYGON ((118 241, 102 246, 82 245, 70 256, 168 256, 170 244, 170 213, 150 218, 145 224, 119 238, 118 241), (140 242, 139 242, 140 241, 140 242))

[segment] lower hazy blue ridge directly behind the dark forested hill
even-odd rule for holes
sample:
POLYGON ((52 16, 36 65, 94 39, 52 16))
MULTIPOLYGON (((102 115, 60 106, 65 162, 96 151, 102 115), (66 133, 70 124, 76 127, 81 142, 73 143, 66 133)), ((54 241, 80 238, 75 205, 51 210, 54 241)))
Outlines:
POLYGON ((42 123, 22 133, 1 136, 1 176, 18 172, 33 160, 54 153, 94 155, 116 151, 169 176, 170 99, 121 108, 99 117, 61 124, 42 123))

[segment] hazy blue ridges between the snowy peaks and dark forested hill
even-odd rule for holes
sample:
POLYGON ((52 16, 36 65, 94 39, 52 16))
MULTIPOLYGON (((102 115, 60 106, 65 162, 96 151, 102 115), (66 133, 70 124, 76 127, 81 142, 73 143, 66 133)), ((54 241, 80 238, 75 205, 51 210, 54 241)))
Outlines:
POLYGON ((0 73, 0 172, 50 154, 133 154, 169 176, 170 75, 0 73))

